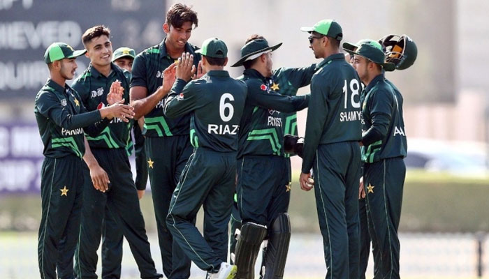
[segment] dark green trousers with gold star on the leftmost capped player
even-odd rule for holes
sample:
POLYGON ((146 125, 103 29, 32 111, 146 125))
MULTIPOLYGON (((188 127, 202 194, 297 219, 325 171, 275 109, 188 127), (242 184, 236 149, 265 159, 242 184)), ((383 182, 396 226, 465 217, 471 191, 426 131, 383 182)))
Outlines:
POLYGON ((82 159, 73 155, 43 161, 38 234, 38 264, 43 279, 73 278, 82 208, 82 164, 82 159))

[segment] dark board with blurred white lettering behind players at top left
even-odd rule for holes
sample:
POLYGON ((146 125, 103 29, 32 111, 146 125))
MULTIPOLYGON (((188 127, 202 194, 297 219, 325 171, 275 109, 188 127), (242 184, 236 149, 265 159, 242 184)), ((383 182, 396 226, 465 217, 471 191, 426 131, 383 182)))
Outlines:
MULTIPOLYGON (((163 38, 162 0, 0 0, 0 96, 2 100, 33 98, 48 77, 43 61, 46 48, 63 42, 82 49, 81 37, 89 27, 109 27, 114 50, 128 46, 137 51, 163 38)), ((78 73, 88 59, 77 60, 78 73)))

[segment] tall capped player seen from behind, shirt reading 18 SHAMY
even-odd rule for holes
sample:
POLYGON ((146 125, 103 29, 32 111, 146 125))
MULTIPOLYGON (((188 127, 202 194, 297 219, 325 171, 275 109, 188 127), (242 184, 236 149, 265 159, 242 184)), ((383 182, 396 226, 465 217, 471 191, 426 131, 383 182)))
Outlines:
POLYGON ((357 278, 360 80, 340 53, 340 24, 321 20, 301 30, 310 33, 309 47, 323 61, 311 81, 300 188, 312 189, 313 169, 326 278, 357 278))

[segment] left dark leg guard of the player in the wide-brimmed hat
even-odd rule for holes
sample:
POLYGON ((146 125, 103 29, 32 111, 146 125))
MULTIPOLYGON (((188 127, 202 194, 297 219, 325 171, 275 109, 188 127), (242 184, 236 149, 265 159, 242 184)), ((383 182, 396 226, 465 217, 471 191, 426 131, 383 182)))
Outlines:
POLYGON ((237 279, 253 279, 254 266, 261 241, 267 234, 267 227, 255 223, 245 223, 241 227, 241 234, 236 244, 236 266, 238 266, 237 279))

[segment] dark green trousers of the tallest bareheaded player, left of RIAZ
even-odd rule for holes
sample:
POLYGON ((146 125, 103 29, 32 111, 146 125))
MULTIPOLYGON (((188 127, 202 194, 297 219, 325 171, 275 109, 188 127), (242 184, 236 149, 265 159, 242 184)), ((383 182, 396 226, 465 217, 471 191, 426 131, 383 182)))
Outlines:
POLYGON ((180 174, 194 149, 189 135, 146 137, 145 148, 163 273, 169 279, 186 279, 190 277, 191 262, 173 241, 166 226, 166 216, 180 174))

